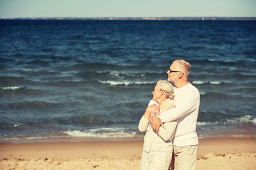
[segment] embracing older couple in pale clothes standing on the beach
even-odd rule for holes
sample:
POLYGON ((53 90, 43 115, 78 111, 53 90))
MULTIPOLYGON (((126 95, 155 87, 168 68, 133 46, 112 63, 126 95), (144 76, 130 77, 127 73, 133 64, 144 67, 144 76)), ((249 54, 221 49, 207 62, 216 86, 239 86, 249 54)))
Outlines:
POLYGON ((139 121, 139 131, 146 131, 141 170, 196 167, 200 95, 188 81, 190 69, 188 62, 175 60, 167 72, 168 81, 156 83, 153 98, 139 121), (170 165, 172 157, 174 167, 170 165))

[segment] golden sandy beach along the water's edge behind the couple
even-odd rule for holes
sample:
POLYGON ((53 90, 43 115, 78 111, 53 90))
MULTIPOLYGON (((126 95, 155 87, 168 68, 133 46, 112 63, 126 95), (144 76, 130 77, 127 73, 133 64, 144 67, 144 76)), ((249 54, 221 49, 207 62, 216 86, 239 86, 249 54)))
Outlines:
MULTIPOLYGON (((143 141, 0 143, 0 169, 139 170, 143 141)), ((201 139, 197 170, 256 169, 256 138, 201 139)))

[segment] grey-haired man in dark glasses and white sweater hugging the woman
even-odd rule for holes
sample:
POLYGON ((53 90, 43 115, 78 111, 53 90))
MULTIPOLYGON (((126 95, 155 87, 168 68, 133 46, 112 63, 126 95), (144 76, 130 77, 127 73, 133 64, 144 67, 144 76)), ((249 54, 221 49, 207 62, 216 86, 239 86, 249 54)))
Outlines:
POLYGON ((196 167, 198 136, 196 134, 196 121, 200 105, 198 89, 188 81, 191 65, 184 60, 176 60, 168 70, 168 80, 176 87, 176 108, 157 115, 151 121, 151 127, 159 131, 163 123, 178 120, 174 133, 175 170, 193 170, 196 167), (167 113, 167 114, 166 114, 167 113))

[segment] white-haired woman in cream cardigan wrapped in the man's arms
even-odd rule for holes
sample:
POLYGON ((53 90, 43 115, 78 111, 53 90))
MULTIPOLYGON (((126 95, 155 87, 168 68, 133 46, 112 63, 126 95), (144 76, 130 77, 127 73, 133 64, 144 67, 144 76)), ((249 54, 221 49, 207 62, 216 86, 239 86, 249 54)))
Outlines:
POLYGON ((156 133, 149 123, 150 115, 156 111, 164 112, 174 107, 174 86, 169 81, 160 80, 152 92, 153 99, 139 121, 139 131, 145 132, 141 159, 141 170, 166 170, 171 164, 172 135, 176 130, 177 121, 164 123, 156 133))

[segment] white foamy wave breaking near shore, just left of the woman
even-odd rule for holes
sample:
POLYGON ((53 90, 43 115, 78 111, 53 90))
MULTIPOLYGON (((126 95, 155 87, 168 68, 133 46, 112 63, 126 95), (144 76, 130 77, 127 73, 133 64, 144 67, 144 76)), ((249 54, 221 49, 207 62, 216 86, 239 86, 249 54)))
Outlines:
POLYGON ((137 132, 131 130, 127 132, 125 128, 97 128, 91 130, 68 130, 64 132, 72 137, 94 137, 94 138, 125 138, 136 137, 137 132))

